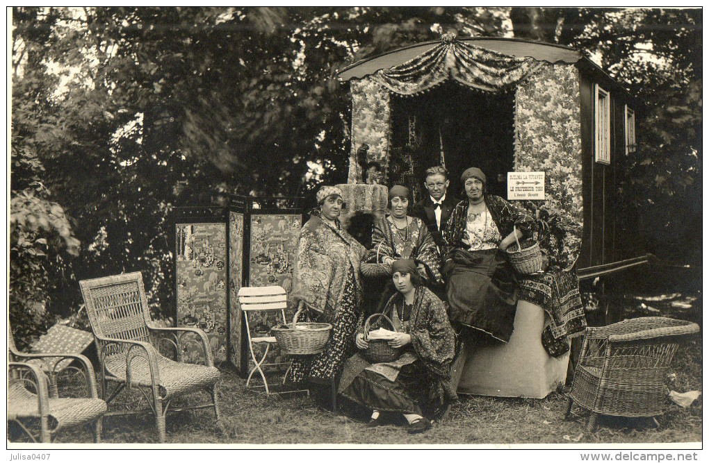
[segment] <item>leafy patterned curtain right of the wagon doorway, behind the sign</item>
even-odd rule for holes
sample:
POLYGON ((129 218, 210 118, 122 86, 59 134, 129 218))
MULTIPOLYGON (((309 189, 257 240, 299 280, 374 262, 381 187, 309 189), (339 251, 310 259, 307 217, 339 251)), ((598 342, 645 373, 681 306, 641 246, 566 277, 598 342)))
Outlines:
POLYGON ((574 65, 545 64, 518 86, 515 110, 515 171, 544 171, 546 199, 528 208, 543 212, 550 226, 554 268, 573 265, 581 251, 581 100, 574 65))

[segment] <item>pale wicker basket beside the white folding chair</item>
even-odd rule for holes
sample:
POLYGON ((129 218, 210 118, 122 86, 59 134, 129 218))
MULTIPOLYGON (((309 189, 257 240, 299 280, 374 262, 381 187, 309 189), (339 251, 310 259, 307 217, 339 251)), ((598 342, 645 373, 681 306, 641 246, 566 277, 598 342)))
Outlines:
POLYGON ((271 333, 276 338, 276 342, 285 354, 317 354, 323 352, 325 345, 328 343, 330 331, 332 331, 333 326, 329 323, 296 321, 303 309, 304 306, 301 301, 298 311, 296 311, 296 314, 293 316, 293 323, 271 328, 271 333))

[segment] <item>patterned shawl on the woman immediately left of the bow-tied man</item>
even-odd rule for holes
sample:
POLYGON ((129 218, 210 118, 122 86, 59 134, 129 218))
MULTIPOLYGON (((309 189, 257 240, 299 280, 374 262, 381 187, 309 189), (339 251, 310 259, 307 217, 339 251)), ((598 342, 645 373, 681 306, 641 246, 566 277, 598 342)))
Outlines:
MULTIPOLYGON (((388 216, 387 216, 388 217, 388 216)), ((441 281, 440 259, 433 236, 423 220, 418 217, 413 219, 408 227, 408 242, 403 243, 401 236, 396 236, 394 225, 386 217, 382 217, 374 224, 372 232, 372 249, 367 252, 367 262, 376 263, 377 248, 379 248, 379 262, 386 257, 411 258, 417 264, 423 263, 426 268, 428 280, 432 283, 441 281)))

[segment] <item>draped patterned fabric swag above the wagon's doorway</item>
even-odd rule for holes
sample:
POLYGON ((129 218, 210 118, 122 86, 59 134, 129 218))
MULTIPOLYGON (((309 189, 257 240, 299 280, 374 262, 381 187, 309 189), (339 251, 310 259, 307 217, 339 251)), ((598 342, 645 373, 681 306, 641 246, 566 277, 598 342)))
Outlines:
POLYGON ((449 77, 466 86, 497 92, 515 86, 541 66, 530 57, 510 57, 452 39, 401 66, 381 69, 372 79, 400 95, 420 93, 449 77))

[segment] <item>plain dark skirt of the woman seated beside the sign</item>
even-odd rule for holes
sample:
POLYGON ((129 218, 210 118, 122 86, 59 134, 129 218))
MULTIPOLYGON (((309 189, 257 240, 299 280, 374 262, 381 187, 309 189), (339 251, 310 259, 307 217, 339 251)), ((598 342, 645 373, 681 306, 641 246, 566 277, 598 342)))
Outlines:
POLYGON ((445 256, 443 274, 452 324, 509 341, 515 322, 518 284, 505 253, 499 249, 454 249, 445 256))

